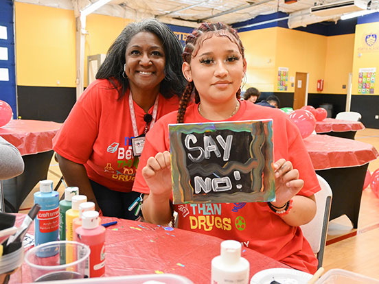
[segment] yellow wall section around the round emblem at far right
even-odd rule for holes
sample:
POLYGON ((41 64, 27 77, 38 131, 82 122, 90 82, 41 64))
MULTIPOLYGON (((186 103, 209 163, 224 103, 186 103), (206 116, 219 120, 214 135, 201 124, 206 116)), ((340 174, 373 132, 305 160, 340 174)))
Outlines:
POLYGON ((365 23, 356 25, 354 56, 353 56, 353 95, 358 94, 358 75, 360 68, 373 68, 376 67, 376 81, 374 85, 374 94, 379 95, 379 40, 376 40, 374 45, 367 45, 365 37, 368 34, 379 34, 379 22, 365 23))

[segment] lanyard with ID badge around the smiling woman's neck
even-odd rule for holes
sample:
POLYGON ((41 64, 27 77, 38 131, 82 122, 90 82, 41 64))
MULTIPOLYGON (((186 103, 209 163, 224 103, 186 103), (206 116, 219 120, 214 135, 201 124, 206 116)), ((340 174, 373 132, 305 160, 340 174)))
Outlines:
POLYGON ((159 100, 159 95, 157 95, 157 98, 155 99, 152 115, 146 114, 143 117, 143 120, 146 122, 145 131, 143 132, 143 134, 138 135, 137 120, 135 119, 135 110, 133 106, 133 97, 132 97, 132 93, 129 91, 130 119, 132 121, 133 134, 134 134, 134 137, 132 138, 132 149, 133 149, 133 156, 135 157, 141 156, 143 146, 145 145, 145 139, 146 139, 145 134, 149 130, 148 123, 151 121, 150 128, 152 128, 152 126, 154 125, 155 119, 157 118, 158 100, 159 100))

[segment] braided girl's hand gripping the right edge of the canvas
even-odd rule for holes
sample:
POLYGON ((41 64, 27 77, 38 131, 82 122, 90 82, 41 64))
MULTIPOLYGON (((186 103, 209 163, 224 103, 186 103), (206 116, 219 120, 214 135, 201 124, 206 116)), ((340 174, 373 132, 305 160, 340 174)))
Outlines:
POLYGON ((292 163, 284 158, 274 163, 274 169, 276 199, 271 204, 280 208, 300 191, 304 182, 299 179, 299 171, 294 169, 292 163))

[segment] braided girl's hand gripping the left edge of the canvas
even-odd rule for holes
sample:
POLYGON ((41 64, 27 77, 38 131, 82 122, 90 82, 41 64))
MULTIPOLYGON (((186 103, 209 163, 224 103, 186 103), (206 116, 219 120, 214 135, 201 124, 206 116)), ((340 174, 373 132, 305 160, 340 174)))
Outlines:
POLYGON ((142 169, 142 176, 150 188, 150 196, 154 200, 165 202, 170 200, 172 193, 170 152, 159 152, 148 158, 142 169))

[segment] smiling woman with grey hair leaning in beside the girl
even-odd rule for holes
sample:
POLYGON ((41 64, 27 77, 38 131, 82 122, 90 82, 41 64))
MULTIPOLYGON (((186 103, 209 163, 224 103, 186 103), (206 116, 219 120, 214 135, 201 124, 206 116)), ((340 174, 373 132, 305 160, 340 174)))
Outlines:
POLYGON ((106 216, 139 218, 128 210, 139 198, 131 192, 139 156, 145 134, 179 107, 182 51, 157 20, 127 25, 54 137, 67 185, 79 187, 106 216))

